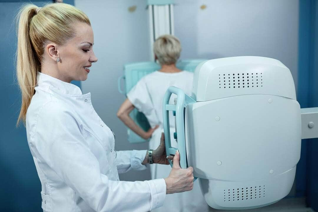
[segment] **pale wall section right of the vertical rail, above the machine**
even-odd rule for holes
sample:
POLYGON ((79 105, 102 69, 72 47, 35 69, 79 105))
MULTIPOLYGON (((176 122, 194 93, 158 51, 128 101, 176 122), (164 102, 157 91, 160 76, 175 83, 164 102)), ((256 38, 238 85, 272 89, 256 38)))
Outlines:
POLYGON ((297 87, 298 0, 175 0, 181 58, 263 56, 286 65, 297 87), (201 10, 202 5, 206 9, 201 10))

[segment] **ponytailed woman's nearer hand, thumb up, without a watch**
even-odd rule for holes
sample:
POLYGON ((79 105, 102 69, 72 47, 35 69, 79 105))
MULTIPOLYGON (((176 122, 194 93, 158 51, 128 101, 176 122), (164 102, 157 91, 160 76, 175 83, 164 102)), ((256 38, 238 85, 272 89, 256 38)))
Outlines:
POLYGON ((166 194, 190 191, 193 188, 193 168, 183 169, 180 167, 180 154, 176 151, 173 158, 173 166, 167 178, 165 178, 167 191, 166 194))

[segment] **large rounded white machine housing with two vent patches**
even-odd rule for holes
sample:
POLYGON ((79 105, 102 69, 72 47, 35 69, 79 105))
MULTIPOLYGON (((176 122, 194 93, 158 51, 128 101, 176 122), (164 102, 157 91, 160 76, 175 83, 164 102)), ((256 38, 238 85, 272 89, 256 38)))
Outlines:
POLYGON ((294 80, 279 60, 207 60, 185 109, 188 166, 215 209, 272 204, 291 190, 301 153, 294 80))

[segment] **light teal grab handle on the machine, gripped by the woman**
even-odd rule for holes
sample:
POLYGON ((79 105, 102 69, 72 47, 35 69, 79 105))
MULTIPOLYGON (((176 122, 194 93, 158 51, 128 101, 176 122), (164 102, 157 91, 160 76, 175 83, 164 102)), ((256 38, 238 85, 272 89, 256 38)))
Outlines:
MULTIPOLYGON (((170 86, 166 91, 163 98, 163 131, 165 139, 166 154, 175 155, 176 150, 180 153, 180 167, 187 168, 186 148, 185 148, 185 131, 184 131, 184 108, 190 104, 196 102, 194 99, 186 95, 181 89, 170 86), (176 105, 170 105, 169 99, 171 94, 177 95, 176 105), (176 111, 176 131, 178 135, 178 148, 171 147, 170 140, 170 124, 169 124, 169 111, 176 111)), ((171 167, 172 162, 169 161, 171 167)))

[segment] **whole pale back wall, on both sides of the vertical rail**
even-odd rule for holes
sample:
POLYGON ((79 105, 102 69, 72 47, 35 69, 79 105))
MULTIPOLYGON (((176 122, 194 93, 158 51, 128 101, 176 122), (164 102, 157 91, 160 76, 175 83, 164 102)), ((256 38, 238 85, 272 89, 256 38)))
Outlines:
MULTIPOLYGON (((181 58, 264 56, 279 59, 297 84, 298 0, 175 0, 175 35, 181 58), (205 10, 200 6, 205 4, 205 10)), ((147 149, 127 141, 126 127, 116 117, 125 99, 117 91, 123 65, 149 60, 146 0, 75 0, 91 20, 99 61, 93 64, 83 93, 92 93, 96 112, 116 133, 116 149, 147 149), (136 5, 135 12, 128 7, 136 5)), ((149 170, 121 174, 121 180, 149 179, 149 170)))

